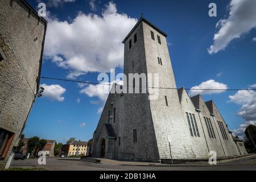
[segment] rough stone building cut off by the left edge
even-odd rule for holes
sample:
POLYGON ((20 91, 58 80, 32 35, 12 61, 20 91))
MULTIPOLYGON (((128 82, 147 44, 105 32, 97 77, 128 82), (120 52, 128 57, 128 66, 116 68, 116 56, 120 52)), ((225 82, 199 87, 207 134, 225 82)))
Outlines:
POLYGON ((11 162, 39 90, 46 27, 27 1, 0 1, 0 169, 11 162))

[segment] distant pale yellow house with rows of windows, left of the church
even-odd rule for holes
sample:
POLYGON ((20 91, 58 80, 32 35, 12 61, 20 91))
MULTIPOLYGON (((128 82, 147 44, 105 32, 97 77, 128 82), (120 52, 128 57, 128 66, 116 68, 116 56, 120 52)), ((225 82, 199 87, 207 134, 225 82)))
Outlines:
POLYGON ((87 143, 82 141, 73 141, 63 145, 61 151, 64 152, 65 156, 71 155, 86 155, 87 152, 87 143))

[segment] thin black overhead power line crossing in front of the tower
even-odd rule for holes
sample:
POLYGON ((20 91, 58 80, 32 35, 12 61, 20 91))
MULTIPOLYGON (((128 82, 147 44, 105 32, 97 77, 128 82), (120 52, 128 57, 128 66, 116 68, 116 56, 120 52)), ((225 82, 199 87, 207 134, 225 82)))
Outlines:
MULTIPOLYGON (((80 80, 69 80, 69 79, 64 79, 64 78, 53 78, 53 77, 40 77, 48 80, 59 80, 59 81, 69 81, 69 82, 78 82, 82 84, 92 84, 92 85, 110 85, 112 86, 113 84, 107 83, 107 82, 92 82, 92 81, 80 81, 80 80)), ((135 86, 136 87, 136 86, 135 86)), ((170 87, 154 87, 154 86, 148 86, 148 88, 153 88, 153 89, 180 89, 180 88, 170 88, 170 87)), ((195 89, 195 88, 183 88, 184 90, 229 90, 229 91, 238 91, 238 90, 256 90, 256 88, 251 88, 251 89, 195 89)))

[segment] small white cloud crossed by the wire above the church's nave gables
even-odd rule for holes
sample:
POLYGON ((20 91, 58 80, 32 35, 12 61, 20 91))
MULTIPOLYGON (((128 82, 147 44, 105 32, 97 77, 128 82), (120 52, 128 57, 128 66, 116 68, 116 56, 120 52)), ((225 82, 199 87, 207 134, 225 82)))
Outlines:
POLYGON ((208 80, 205 82, 201 82, 200 85, 193 86, 191 90, 189 90, 189 96, 195 96, 197 94, 218 94, 225 92, 225 90, 193 90, 193 89, 227 89, 228 85, 222 84, 215 80, 208 80))

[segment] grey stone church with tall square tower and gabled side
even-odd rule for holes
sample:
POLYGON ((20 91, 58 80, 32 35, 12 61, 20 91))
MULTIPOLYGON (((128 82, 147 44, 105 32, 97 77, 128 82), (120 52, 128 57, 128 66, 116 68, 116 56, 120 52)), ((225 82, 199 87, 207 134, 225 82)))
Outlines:
MULTIPOLYGON (((156 73, 160 88, 176 88, 166 36, 145 18, 138 20, 123 40, 127 82, 129 73, 156 73)), ((184 88, 159 89, 156 100, 149 97, 148 87, 147 93, 110 92, 93 134, 92 156, 160 162, 171 156, 206 159, 209 151, 240 155, 213 101, 189 97, 184 88)))

